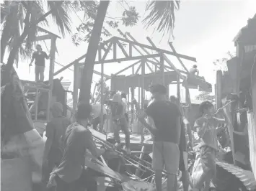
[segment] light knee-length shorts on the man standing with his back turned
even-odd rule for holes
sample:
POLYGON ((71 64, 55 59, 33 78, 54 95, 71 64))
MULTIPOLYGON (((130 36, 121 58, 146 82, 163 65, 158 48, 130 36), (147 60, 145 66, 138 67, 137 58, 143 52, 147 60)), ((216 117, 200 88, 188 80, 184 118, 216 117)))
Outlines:
POLYGON ((154 141, 153 161, 154 170, 164 169, 168 174, 177 174, 180 162, 180 149, 178 144, 154 141))

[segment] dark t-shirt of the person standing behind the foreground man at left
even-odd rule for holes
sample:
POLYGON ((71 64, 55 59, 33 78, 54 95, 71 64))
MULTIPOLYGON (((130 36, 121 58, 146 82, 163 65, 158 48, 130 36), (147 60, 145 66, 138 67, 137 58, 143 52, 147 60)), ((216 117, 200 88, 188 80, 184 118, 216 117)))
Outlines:
POLYGON ((48 160, 51 162, 61 162, 64 150, 65 132, 69 125, 69 119, 63 116, 53 118, 46 125, 45 136, 47 139, 51 139, 53 141, 48 154, 48 160))

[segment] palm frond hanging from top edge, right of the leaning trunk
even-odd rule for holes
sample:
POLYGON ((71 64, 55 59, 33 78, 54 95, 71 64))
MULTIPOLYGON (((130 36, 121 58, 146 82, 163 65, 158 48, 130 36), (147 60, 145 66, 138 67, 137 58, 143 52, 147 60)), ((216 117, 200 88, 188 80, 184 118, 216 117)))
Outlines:
POLYGON ((149 1, 146 4, 147 16, 142 21, 146 28, 155 26, 159 32, 172 34, 175 27, 175 11, 180 9, 180 1, 149 1))

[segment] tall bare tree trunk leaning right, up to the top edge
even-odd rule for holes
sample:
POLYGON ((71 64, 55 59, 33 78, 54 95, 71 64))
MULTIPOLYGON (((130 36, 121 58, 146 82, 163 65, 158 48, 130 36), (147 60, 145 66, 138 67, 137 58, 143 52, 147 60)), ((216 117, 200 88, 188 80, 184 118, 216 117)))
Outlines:
POLYGON ((100 42, 100 34, 102 32, 103 22, 109 4, 110 1, 100 1, 100 5, 97 11, 97 17, 95 19, 94 27, 92 29, 92 36, 89 39, 87 57, 84 62, 84 69, 81 76, 79 102, 82 101, 85 103, 89 103, 90 100, 94 62, 100 42))

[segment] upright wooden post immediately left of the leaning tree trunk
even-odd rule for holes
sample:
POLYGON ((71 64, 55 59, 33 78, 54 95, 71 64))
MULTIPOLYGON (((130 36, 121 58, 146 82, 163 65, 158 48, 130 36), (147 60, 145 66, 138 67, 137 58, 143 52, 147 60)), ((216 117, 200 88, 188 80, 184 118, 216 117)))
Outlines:
POLYGON ((74 83, 73 83, 73 112, 76 111, 76 106, 78 102, 78 89, 79 89, 79 83, 80 83, 80 71, 79 68, 80 65, 79 63, 74 64, 74 83))

